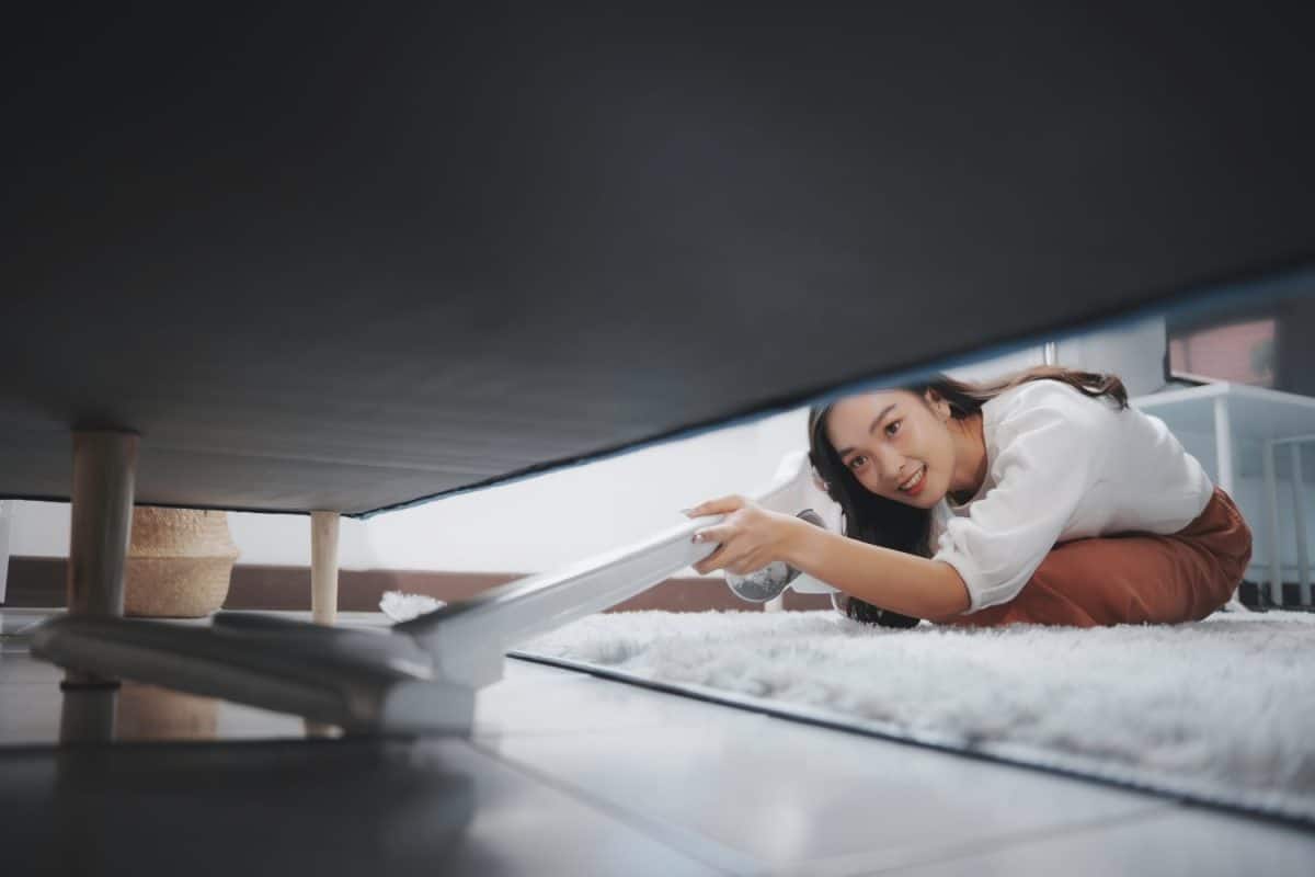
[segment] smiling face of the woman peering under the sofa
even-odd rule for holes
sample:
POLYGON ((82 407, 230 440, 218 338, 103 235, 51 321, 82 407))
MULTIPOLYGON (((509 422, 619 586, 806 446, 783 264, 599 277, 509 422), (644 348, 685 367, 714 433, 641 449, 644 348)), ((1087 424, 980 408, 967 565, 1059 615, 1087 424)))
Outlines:
POLYGON ((949 490, 955 444, 928 402, 938 404, 902 389, 849 396, 831 406, 827 438, 864 488, 930 509, 949 490))

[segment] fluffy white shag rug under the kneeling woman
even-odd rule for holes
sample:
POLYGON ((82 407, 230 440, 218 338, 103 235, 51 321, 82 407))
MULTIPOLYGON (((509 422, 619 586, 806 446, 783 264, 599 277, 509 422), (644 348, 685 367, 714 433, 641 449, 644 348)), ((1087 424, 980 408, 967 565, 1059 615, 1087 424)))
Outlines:
POLYGON ((896 631, 831 611, 643 611, 518 653, 1315 823, 1312 614, 896 631))

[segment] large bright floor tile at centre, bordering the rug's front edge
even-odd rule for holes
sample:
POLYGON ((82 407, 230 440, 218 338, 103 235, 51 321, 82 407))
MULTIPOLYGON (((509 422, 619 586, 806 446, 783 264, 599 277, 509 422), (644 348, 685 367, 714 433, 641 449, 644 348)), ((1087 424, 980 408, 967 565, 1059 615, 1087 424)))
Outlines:
MULTIPOLYGON (((682 698, 651 693, 679 705, 682 698)), ((776 868, 880 851, 919 861, 951 840, 1019 839, 1169 802, 885 740, 721 710, 701 727, 505 735, 477 744, 606 801, 671 843, 698 838, 776 868), (735 718, 730 718, 735 717, 735 718), (663 834, 664 831, 669 834, 663 834)), ((810 870, 811 869, 811 870, 810 870)))

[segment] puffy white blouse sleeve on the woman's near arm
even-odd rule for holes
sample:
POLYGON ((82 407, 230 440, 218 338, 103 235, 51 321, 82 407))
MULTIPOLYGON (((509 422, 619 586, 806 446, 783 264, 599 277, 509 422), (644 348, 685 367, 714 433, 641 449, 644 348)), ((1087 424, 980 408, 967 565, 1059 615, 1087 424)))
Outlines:
POLYGON ((995 485, 945 523, 932 556, 963 577, 967 613, 1016 597, 1055 547, 1095 468, 1098 430, 1084 414, 1040 405, 999 425, 995 485))

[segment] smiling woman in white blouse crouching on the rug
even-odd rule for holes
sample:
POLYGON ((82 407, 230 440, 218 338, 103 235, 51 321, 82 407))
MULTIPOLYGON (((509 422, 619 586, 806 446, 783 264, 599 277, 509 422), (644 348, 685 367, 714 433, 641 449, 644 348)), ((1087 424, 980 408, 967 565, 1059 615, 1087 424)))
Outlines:
POLYGON ((1205 618, 1251 559, 1232 500, 1114 376, 861 393, 814 409, 809 442, 844 535, 725 497, 688 511, 727 515, 696 569, 782 560, 889 626, 1093 627, 1205 618))

